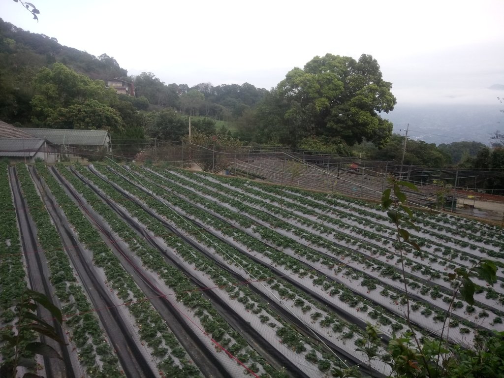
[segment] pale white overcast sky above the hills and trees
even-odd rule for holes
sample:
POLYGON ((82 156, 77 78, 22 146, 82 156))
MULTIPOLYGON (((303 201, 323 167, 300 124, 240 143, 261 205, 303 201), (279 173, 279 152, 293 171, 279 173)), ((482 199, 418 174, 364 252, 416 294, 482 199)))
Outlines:
POLYGON ((502 0, 13 0, 0 17, 166 84, 270 89, 332 53, 371 54, 401 103, 495 103, 504 84, 502 0))

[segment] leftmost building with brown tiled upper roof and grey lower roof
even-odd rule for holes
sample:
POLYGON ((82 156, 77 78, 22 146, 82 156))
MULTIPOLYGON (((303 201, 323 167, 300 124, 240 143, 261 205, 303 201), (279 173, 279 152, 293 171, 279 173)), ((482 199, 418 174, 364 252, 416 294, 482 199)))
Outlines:
POLYGON ((55 148, 44 138, 37 138, 10 123, 0 121, 0 158, 33 163, 36 159, 54 163, 55 148))

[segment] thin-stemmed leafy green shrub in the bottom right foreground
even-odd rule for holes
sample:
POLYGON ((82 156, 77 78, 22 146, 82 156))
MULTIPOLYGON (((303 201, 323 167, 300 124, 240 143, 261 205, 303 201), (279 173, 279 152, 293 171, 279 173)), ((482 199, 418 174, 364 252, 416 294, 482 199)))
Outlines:
MULTIPOLYGON (((498 371, 502 371, 503 363, 500 358, 504 351, 502 333, 490 335, 486 340, 476 334, 476 344, 474 348, 455 348, 449 344, 448 338, 444 339, 444 332, 448 328, 447 323, 452 325, 451 314, 455 306, 460 307, 457 300, 458 295, 462 297, 471 307, 474 304, 474 294, 481 290, 481 287, 474 283, 471 277, 484 280, 488 285, 493 286, 497 282, 497 267, 501 263, 488 259, 477 261, 469 270, 456 268, 454 272, 448 273, 448 279, 454 282, 454 289, 450 300, 450 305, 443 322, 441 334, 436 340, 423 339, 422 344, 415 336, 410 322, 410 303, 407 286, 407 278, 404 269, 403 245, 404 243, 420 251, 418 243, 410 239, 410 233, 406 227, 415 228, 413 223, 413 211, 407 205, 407 196, 403 188, 416 191, 414 184, 399 181, 394 178, 389 179, 392 187, 387 188, 382 195, 382 208, 387 211, 389 219, 394 223, 397 230, 397 240, 400 243, 400 255, 402 264, 402 276, 405 288, 405 300, 407 304, 406 321, 411 330, 411 342, 407 337, 394 337, 388 345, 389 355, 385 360, 392 367, 392 376, 411 377, 428 376, 434 377, 483 377, 502 376, 498 371), (392 193, 394 196, 392 197, 392 193), (457 305, 455 305, 457 303, 457 305), (496 351, 494 356, 491 351, 496 351), (496 375, 497 374, 497 375, 496 375)), ((437 288, 435 288, 437 290, 437 288)), ((484 312, 484 311, 482 311, 484 312)), ((423 311, 422 311, 423 313, 423 311)), ((369 340, 371 340, 369 338, 369 340)))

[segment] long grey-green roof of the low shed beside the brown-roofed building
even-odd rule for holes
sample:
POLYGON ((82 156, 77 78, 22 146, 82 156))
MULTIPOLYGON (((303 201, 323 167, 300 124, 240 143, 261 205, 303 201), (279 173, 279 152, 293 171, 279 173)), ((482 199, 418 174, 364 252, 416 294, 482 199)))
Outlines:
POLYGON ((35 138, 45 138, 52 144, 105 146, 108 132, 106 130, 70 130, 70 129, 36 129, 25 128, 35 138))

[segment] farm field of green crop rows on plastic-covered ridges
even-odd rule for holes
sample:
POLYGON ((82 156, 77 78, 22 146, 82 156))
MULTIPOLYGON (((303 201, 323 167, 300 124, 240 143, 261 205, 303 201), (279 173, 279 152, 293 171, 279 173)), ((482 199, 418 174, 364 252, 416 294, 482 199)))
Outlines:
POLYGON ((378 355, 408 331, 403 265, 419 340, 504 331, 501 271, 475 279, 473 305, 452 301, 449 272, 504 261, 500 230, 474 221, 418 212, 418 251, 378 205, 333 194, 113 163, 0 168, 2 331, 26 287, 61 308, 67 346, 38 361, 46 376, 386 376, 362 346, 367 323, 378 355))

